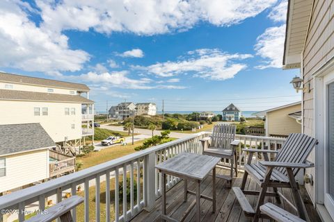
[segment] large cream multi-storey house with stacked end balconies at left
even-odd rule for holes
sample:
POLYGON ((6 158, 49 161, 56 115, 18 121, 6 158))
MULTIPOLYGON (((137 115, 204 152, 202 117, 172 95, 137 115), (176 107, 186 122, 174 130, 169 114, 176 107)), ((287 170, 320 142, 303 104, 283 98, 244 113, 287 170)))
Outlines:
POLYGON ((60 146, 77 147, 94 135, 89 91, 84 84, 0 73, 0 124, 40 123, 60 146))

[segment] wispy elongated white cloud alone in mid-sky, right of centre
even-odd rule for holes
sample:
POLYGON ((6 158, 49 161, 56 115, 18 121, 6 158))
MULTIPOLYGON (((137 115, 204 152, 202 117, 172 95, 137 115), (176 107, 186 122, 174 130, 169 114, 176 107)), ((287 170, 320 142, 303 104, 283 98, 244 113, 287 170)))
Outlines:
POLYGON ((158 62, 148 67, 132 68, 161 77, 189 73, 200 78, 225 80, 233 78, 235 74, 245 69, 246 65, 240 61, 250 57, 252 56, 249 54, 228 54, 218 49, 198 49, 189 51, 188 56, 176 62, 158 62))

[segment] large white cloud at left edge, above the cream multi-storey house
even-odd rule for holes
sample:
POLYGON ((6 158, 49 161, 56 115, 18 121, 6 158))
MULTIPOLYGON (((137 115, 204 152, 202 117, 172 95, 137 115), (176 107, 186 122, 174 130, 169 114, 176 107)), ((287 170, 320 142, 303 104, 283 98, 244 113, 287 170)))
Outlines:
POLYGON ((29 3, 0 1, 0 66, 57 76, 59 71, 80 70, 88 53, 71 50, 65 35, 36 26, 29 11, 33 11, 29 3))

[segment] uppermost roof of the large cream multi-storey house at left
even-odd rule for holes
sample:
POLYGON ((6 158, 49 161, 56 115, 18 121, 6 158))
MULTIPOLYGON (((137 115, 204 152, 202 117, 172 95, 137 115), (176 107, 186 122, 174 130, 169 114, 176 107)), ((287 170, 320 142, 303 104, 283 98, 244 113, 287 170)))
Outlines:
POLYGON ((59 80, 51 80, 47 78, 36 78, 31 76, 21 76, 17 74, 6 74, 0 72, 0 81, 7 83, 19 83, 27 85, 38 85, 47 87, 57 87, 65 89, 74 89, 79 91, 88 92, 90 89, 87 85, 81 83, 70 83, 59 80))

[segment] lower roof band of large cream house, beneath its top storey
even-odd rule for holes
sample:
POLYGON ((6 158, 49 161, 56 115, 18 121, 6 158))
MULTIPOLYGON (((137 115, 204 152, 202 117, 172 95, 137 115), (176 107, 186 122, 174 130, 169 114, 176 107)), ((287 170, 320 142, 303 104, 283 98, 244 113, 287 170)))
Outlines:
POLYGON ((0 100, 47 101, 64 103, 92 104, 94 101, 79 95, 55 94, 45 92, 27 92, 11 89, 0 89, 0 100))

